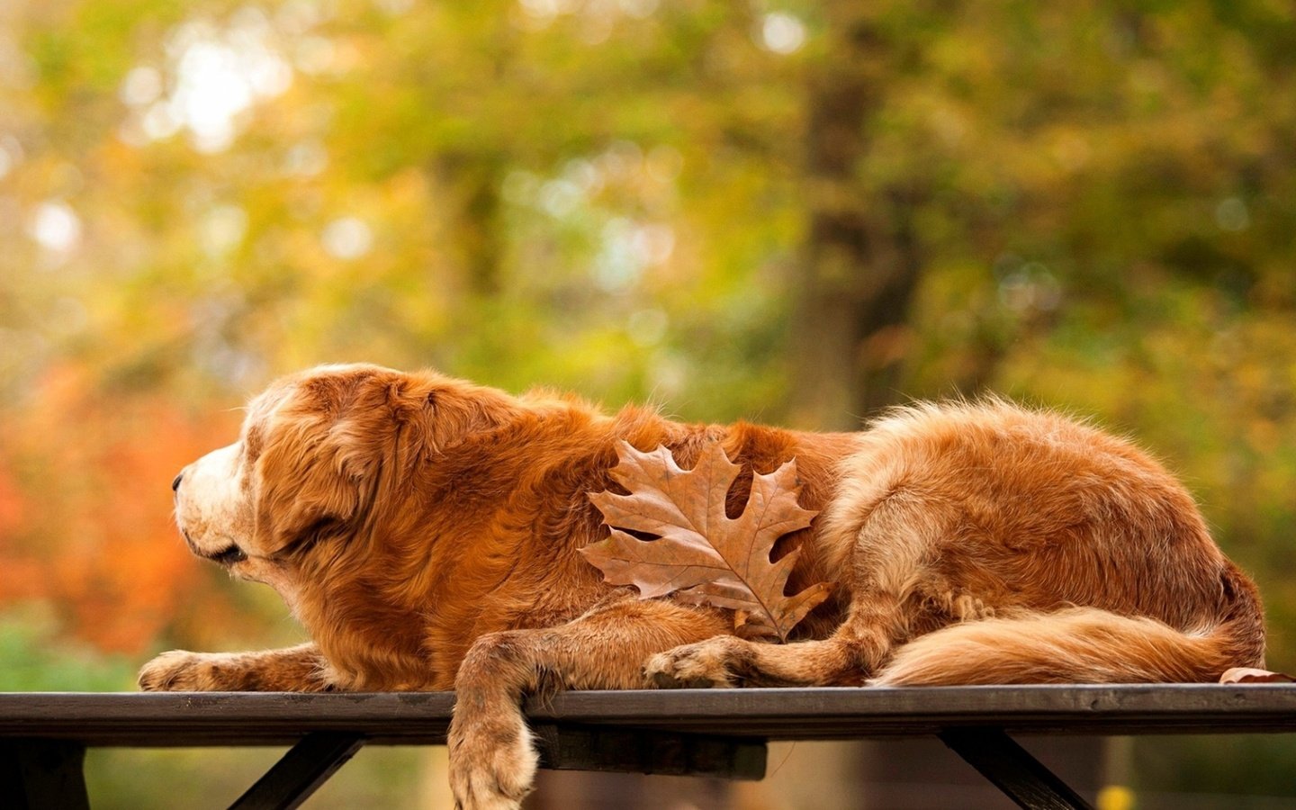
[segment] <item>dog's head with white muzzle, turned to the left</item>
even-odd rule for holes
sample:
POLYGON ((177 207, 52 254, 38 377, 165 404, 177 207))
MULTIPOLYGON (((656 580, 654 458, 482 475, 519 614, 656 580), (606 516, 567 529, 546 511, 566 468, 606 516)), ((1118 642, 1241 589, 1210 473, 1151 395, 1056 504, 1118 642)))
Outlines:
POLYGON ((438 452, 507 416, 509 398, 435 373, 324 365, 251 400, 237 442, 176 476, 176 524, 194 553, 279 587, 321 540, 372 527, 438 452))

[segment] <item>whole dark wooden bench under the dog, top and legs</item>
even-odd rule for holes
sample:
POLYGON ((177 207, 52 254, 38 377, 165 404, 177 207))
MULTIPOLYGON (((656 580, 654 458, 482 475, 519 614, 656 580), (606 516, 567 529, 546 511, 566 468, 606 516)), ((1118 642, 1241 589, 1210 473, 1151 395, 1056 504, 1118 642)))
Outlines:
MULTIPOLYGON (((442 745, 455 696, 0 693, 0 806, 88 806, 88 746, 292 745, 235 807, 295 807, 360 745, 442 745)), ((937 736, 1023 807, 1085 801, 1010 735, 1296 732, 1296 684, 568 692, 531 701, 542 767, 765 775, 767 740, 937 736)))

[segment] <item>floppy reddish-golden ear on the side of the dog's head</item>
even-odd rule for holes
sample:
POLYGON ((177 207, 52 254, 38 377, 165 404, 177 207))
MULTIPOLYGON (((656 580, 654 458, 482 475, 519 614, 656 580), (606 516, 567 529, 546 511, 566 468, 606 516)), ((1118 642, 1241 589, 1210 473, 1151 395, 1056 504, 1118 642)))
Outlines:
POLYGON ((270 417, 257 465, 255 553, 273 556, 353 530, 393 441, 386 381, 307 378, 270 417))

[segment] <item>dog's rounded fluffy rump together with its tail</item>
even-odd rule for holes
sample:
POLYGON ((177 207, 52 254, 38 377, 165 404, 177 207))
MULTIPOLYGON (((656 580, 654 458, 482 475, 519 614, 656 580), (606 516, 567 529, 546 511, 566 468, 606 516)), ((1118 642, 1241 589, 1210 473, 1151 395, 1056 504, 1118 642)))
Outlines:
POLYGON ((875 572, 859 587, 901 604, 875 683, 1213 680, 1262 661, 1255 586, 1126 441, 999 400, 921 406, 845 469, 826 539, 854 538, 875 572))

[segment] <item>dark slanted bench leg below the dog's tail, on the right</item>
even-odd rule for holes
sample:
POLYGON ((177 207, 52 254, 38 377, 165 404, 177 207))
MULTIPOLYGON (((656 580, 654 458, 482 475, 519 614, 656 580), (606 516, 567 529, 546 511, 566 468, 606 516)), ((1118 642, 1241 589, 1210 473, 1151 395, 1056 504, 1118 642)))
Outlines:
POLYGON ((941 741, 1026 810, 1091 810, 1001 728, 946 728, 941 741))

